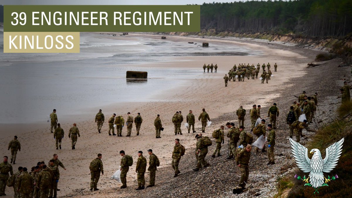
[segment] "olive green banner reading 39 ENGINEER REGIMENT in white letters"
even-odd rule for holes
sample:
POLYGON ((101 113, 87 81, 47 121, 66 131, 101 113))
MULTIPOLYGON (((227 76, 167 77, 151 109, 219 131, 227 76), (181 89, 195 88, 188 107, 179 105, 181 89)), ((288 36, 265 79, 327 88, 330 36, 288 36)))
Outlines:
POLYGON ((5 5, 5 32, 198 32, 199 5, 5 5))

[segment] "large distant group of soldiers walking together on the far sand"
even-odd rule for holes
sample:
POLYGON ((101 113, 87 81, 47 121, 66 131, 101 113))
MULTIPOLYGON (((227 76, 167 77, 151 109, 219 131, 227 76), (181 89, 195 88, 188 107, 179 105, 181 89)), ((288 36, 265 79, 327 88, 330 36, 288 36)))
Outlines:
MULTIPOLYGON (((266 72, 265 70, 265 64, 262 65, 263 73, 260 76, 262 78, 262 83, 264 83, 265 80, 266 80, 266 83, 268 83, 268 81, 271 79, 272 72, 270 70, 270 67, 271 67, 270 63, 268 63, 266 67, 268 68, 268 72, 266 72)), ((276 72, 277 71, 276 63, 274 65, 274 68, 276 72)), ((238 79, 238 81, 244 81, 245 78, 247 78, 248 80, 249 78, 252 78, 253 80, 258 79, 259 70, 260 70, 259 63, 257 64, 257 67, 255 67, 254 64, 250 66, 249 63, 247 65, 239 64, 238 67, 234 65, 233 68, 229 70, 228 76, 227 74, 225 74, 224 76, 225 87, 227 87, 227 82, 231 81, 231 79, 233 79, 233 81, 236 81, 236 78, 238 79)))

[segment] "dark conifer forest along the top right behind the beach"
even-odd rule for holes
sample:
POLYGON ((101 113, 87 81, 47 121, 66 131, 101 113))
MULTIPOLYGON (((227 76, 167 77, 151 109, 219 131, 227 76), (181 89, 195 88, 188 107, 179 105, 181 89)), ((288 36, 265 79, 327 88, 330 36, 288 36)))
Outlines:
POLYGON ((246 1, 201 5, 201 29, 342 37, 352 31, 351 0, 246 1))

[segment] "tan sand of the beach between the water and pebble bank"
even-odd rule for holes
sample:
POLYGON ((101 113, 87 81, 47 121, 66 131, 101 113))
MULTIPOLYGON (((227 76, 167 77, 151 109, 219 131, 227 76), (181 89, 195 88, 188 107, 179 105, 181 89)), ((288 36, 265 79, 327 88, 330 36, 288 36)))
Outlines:
MULTIPOLYGON (((141 36, 141 35, 133 35, 141 36)), ((145 37, 161 37, 160 35, 143 35, 145 37)), ((172 148, 174 146, 174 138, 180 138, 181 143, 186 148, 193 147, 195 144, 194 134, 188 134, 182 123, 182 136, 174 135, 174 126, 171 122, 172 115, 176 111, 182 111, 184 118, 188 114, 188 110, 193 110, 197 118, 204 107, 209 113, 210 119, 219 117, 224 113, 234 112, 239 105, 249 110, 253 104, 260 104, 262 106, 269 106, 273 98, 280 96, 275 90, 279 88, 290 88, 288 82, 292 78, 304 74, 303 68, 308 62, 308 58, 294 52, 270 49, 269 47, 253 44, 242 43, 237 41, 221 41, 219 39, 204 39, 204 38, 189 38, 179 36, 168 36, 170 40, 177 42, 209 42, 221 45, 222 43, 243 46, 245 48, 260 51, 260 55, 253 56, 180 56, 175 62, 164 61, 162 63, 146 62, 141 68, 168 68, 175 69, 192 69, 196 70, 197 74, 190 75, 189 78, 184 77, 183 82, 168 83, 167 89, 160 93, 153 94, 153 97, 147 101, 123 101, 113 104, 100 104, 98 108, 86 107, 83 114, 67 116, 63 118, 61 113, 57 112, 59 122, 61 123, 65 133, 68 134, 69 128, 73 122, 77 123, 80 129, 81 137, 78 138, 76 149, 71 150, 70 140, 67 135, 63 139, 62 150, 55 149, 55 141, 52 134, 49 132, 50 123, 39 124, 6 124, 6 131, 4 126, 1 127, 1 141, 0 148, 7 148, 8 142, 12 139, 14 134, 13 129, 21 134, 19 140, 21 142, 21 152, 17 155, 17 163, 14 169, 18 166, 31 167, 38 161, 49 161, 52 154, 57 153, 59 159, 67 167, 67 171, 63 169, 61 172, 61 179, 58 184, 61 191, 58 196, 73 195, 74 197, 117 197, 116 194, 101 194, 105 190, 111 192, 121 191, 120 184, 111 180, 111 175, 117 170, 121 156, 118 154, 120 150, 125 150, 126 154, 134 157, 134 164, 130 167, 127 174, 127 190, 124 190, 122 197, 127 196, 131 192, 131 188, 137 186, 137 174, 134 172, 137 159, 137 151, 145 151, 144 156, 147 157, 147 149, 153 149, 160 161, 161 167, 169 167, 171 162, 172 148), (228 87, 224 86, 223 76, 232 68, 233 64, 250 63, 262 65, 270 62, 273 67, 275 62, 278 64, 278 72, 273 72, 274 77, 268 84, 261 84, 259 79, 247 80, 244 82, 228 82, 228 87), (181 64, 182 63, 182 64, 181 64), (202 65, 218 64, 218 73, 203 73, 202 65), (102 109, 105 114, 106 121, 112 115, 117 113, 124 116, 126 119, 127 112, 131 112, 132 116, 136 116, 137 112, 141 113, 143 123, 140 130, 140 136, 136 136, 136 129, 132 130, 132 137, 116 137, 108 136, 108 124, 104 123, 102 133, 98 134, 96 124, 94 123, 94 116, 102 109), (157 114, 161 115, 161 120, 165 130, 162 132, 162 138, 155 138, 155 128, 153 121, 157 114), (10 132, 11 131, 11 132, 10 132), (101 175, 98 183, 98 192, 89 192, 89 162, 96 157, 96 154, 103 154, 104 175, 101 175), (130 189, 130 190, 128 190, 130 189)), ((160 52, 162 53, 162 52, 160 52)), ((172 82, 172 79, 169 79, 172 82)), ((163 86, 163 82, 160 85, 163 86)), ((121 93, 124 94, 124 93, 121 93)), ((143 99, 143 96, 141 97, 143 99)), ((279 106, 280 104, 278 104, 279 106)), ((49 114, 50 112, 48 112, 49 114)), ((247 113, 249 113, 247 111, 247 113)), ((265 115, 265 112, 262 112, 265 115)), ((235 117, 233 121, 237 120, 235 117)), ((230 120, 224 120, 224 124, 230 120)), ((249 124, 247 119, 246 124, 249 124)), ((196 131, 200 131, 201 123, 196 122, 196 131)), ((206 135, 211 136, 212 131, 206 131, 206 135)), ((122 135, 126 135, 126 126, 122 130, 122 135)), ((1 149, 3 154, 10 155, 10 153, 1 149)), ((193 151, 190 151, 193 152, 193 151)), ((157 174, 161 174, 157 172, 157 174)), ((148 174, 146 174, 148 177, 148 174)), ((12 188, 6 188, 6 194, 11 196, 12 188)), ((121 195, 119 195, 121 196, 121 195)))

